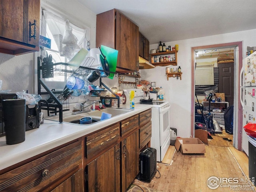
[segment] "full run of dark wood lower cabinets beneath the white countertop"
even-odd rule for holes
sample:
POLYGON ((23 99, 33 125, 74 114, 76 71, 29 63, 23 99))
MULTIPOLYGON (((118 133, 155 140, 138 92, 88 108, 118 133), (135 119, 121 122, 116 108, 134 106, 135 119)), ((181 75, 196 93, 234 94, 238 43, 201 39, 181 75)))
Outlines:
POLYGON ((150 142, 150 119, 147 110, 0 170, 0 191, 125 192, 139 173, 139 140, 150 142))

